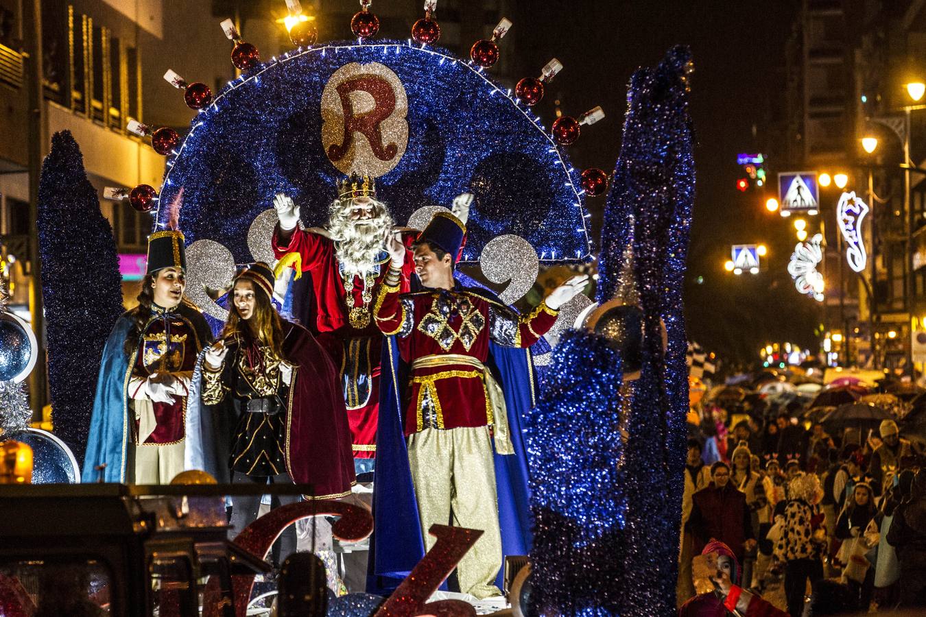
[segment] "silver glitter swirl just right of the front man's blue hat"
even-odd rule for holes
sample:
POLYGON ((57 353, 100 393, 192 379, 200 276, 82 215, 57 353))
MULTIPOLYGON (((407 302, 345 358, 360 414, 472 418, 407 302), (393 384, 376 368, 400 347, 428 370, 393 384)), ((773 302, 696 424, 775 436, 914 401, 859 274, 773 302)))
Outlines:
POLYGON ((489 241, 479 257, 482 274, 493 283, 510 281, 498 294, 502 302, 513 304, 531 290, 540 272, 540 259, 531 243, 520 236, 504 234, 489 241))

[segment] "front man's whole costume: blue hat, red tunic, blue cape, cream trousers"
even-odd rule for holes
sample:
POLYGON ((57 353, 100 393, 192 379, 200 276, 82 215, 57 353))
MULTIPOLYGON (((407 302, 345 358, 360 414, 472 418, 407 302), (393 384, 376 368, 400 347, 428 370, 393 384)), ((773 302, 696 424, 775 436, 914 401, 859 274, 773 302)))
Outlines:
MULTIPOLYGON (((441 212, 419 241, 456 256, 464 234, 457 217, 441 212)), ((532 405, 532 366, 524 350, 558 314, 541 304, 518 315, 458 282, 402 293, 401 279, 391 268, 373 309, 391 338, 393 371, 381 403, 370 587, 407 573, 432 547, 432 524, 452 522, 484 532, 459 562, 460 591, 499 595, 503 554, 526 554, 530 545, 519 418, 532 405)))

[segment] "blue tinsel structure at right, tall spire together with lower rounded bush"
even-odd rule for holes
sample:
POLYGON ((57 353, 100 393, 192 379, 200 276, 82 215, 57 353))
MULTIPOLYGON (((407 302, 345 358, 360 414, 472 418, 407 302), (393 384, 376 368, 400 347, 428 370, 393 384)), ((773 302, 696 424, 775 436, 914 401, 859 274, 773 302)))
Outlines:
POLYGON ((689 51, 676 47, 633 75, 607 198, 597 300, 623 297, 632 281, 644 314, 641 375, 621 390, 615 346, 571 333, 528 424, 534 614, 675 612, 688 388, 682 278, 694 201, 690 72, 689 51), (619 409, 629 433, 623 448, 619 409))

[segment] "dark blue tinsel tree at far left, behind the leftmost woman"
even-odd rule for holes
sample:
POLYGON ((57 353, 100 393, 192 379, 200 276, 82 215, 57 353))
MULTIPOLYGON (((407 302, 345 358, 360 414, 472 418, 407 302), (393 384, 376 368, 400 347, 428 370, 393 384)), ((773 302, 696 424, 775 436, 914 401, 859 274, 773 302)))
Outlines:
POLYGON ((124 309, 113 230, 68 130, 42 165, 38 227, 52 418, 81 461, 103 346, 124 309))

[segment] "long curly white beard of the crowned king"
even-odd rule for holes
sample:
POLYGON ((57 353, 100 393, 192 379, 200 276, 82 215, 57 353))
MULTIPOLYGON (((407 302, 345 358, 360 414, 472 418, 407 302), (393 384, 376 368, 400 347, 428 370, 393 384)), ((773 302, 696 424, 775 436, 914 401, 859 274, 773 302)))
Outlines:
POLYGON ((393 228, 385 204, 373 204, 375 216, 364 221, 350 220, 353 206, 349 200, 336 200, 331 206, 328 231, 334 240, 334 255, 346 274, 362 276, 374 270, 384 250, 386 230, 393 228))

